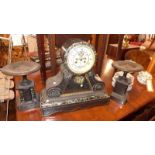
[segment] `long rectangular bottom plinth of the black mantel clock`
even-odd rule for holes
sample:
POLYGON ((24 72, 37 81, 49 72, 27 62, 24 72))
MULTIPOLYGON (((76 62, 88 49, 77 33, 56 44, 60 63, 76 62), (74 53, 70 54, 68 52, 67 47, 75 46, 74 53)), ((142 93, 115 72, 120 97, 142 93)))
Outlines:
POLYGON ((41 111, 43 116, 60 112, 76 111, 92 106, 101 106, 110 101, 103 91, 87 91, 74 94, 64 94, 57 98, 46 98, 46 91, 41 93, 41 111))

